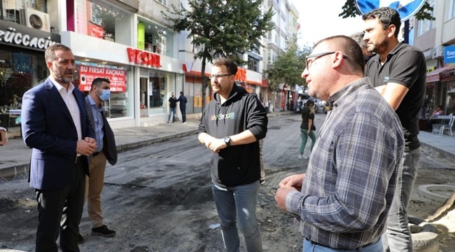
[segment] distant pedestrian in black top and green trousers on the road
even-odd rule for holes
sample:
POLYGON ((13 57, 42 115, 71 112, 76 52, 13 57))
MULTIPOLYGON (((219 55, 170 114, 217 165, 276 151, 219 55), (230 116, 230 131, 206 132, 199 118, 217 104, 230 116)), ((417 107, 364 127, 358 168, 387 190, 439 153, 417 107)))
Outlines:
POLYGON ((314 131, 314 101, 312 99, 307 101, 306 106, 302 109, 302 124, 300 125, 300 137, 302 137, 302 143, 300 144, 299 159, 307 159, 313 151, 314 143, 316 142, 316 134, 314 131), (304 155, 305 146, 307 145, 308 137, 311 138, 311 148, 309 155, 304 155))

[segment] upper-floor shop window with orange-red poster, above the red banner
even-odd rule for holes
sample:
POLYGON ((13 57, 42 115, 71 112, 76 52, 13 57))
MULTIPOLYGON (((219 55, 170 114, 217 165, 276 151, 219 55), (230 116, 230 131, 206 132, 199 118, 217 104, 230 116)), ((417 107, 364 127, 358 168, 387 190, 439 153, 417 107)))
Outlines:
POLYGON ((131 13, 102 0, 78 0, 76 8, 78 33, 130 45, 131 13))

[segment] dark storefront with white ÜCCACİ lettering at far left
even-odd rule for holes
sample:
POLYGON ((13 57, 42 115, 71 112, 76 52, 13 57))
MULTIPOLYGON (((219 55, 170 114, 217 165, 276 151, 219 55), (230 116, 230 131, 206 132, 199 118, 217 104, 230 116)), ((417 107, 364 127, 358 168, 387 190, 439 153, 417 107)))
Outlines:
POLYGON ((58 34, 0 20, 1 127, 19 131, 22 95, 48 78, 44 51, 52 43, 60 43, 58 34))

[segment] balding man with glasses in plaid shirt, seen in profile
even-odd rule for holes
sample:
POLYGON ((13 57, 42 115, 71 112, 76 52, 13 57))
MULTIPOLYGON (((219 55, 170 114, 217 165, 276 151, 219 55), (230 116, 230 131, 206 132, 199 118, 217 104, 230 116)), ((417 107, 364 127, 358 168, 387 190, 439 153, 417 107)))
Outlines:
POLYGON ((305 252, 382 251, 402 163, 400 120, 363 77, 365 59, 352 38, 324 38, 306 58, 302 78, 329 111, 307 173, 283 179, 275 200, 295 216, 305 252))

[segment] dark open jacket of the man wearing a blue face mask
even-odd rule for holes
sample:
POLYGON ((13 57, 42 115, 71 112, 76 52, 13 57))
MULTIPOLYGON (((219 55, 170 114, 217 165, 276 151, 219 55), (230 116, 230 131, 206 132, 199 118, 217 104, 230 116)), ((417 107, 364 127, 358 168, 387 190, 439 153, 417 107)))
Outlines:
MULTIPOLYGON (((90 99, 88 99, 88 95, 85 97, 85 110, 87 111, 87 116, 90 119, 90 123, 92 123, 93 131, 96 129, 94 127, 94 115, 92 111, 92 104, 90 104, 90 99)), ((111 165, 116 165, 117 163, 117 145, 116 139, 114 138, 113 131, 111 129, 111 125, 109 125, 106 115, 102 113, 103 118, 103 153, 106 155, 106 159, 111 165)), ((96 134, 96 132, 95 132, 96 134)), ((92 161, 92 155, 88 157, 88 163, 92 161)))

